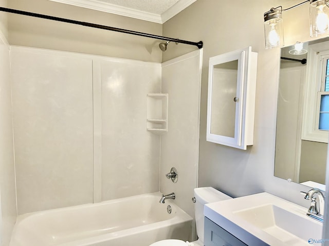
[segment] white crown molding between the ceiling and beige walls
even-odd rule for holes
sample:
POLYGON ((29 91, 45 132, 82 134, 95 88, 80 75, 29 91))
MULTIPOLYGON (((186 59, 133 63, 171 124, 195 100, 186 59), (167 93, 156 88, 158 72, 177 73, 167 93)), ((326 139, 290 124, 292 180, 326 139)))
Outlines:
POLYGON ((49 1, 74 5, 82 8, 93 9, 111 14, 117 14, 126 17, 147 20, 148 22, 163 24, 167 22, 168 19, 172 18, 180 11, 184 10, 185 8, 193 4, 196 0, 180 0, 161 15, 145 12, 141 10, 136 10, 132 8, 122 7, 119 5, 104 3, 98 0, 49 0, 49 1))

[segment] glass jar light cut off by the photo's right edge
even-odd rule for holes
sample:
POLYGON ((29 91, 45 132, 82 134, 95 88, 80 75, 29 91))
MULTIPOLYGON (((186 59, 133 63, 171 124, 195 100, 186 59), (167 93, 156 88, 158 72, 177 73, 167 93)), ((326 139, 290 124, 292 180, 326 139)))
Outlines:
POLYGON ((329 34, 329 0, 309 1, 309 35, 329 34))

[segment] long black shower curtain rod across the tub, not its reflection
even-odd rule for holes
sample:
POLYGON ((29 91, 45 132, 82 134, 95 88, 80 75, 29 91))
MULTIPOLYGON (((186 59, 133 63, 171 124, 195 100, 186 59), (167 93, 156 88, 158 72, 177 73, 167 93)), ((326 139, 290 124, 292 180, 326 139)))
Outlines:
POLYGON ((148 33, 143 33, 143 32, 136 32, 136 31, 126 30, 126 29, 121 29, 121 28, 116 28, 116 27, 108 27, 108 26, 103 26, 103 25, 98 25, 98 24, 93 24, 93 23, 80 22, 78 20, 73 20, 73 19, 65 19, 65 18, 50 16, 50 15, 31 13, 31 12, 26 12, 26 11, 16 10, 16 9, 9 9, 9 8, 4 8, 4 7, 0 7, 0 11, 14 13, 14 14, 22 14, 22 15, 38 17, 38 18, 43 18, 43 19, 51 19, 51 20, 56 20, 58 22, 76 24, 76 25, 85 26, 85 27, 93 27, 93 28, 104 29, 104 30, 115 31, 115 32, 123 32, 123 33, 138 35, 138 36, 151 37, 151 38, 166 40, 166 41, 170 41, 170 42, 176 42, 176 43, 180 43, 180 44, 195 45, 199 49, 201 49, 203 47, 202 41, 199 41, 196 43, 196 42, 181 40, 181 39, 177 39, 177 38, 163 37, 163 36, 158 36, 158 35, 153 35, 153 34, 148 34, 148 33))

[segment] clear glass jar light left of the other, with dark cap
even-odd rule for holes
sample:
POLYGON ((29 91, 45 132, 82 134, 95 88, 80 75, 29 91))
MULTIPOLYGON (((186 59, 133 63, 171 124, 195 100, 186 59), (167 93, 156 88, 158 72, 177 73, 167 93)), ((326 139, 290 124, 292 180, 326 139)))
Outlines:
POLYGON ((281 11, 272 8, 264 14, 264 20, 265 48, 282 47, 284 45, 284 39, 281 11))

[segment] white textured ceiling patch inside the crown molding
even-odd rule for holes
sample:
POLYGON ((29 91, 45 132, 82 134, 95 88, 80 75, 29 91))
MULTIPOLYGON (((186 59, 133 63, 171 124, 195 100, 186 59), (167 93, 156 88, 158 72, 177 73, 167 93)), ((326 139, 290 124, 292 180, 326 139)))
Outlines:
POLYGON ((154 14, 162 14, 178 1, 179 0, 99 0, 99 2, 119 5, 154 14))

